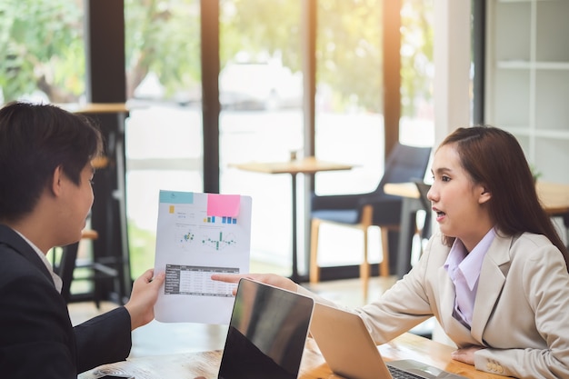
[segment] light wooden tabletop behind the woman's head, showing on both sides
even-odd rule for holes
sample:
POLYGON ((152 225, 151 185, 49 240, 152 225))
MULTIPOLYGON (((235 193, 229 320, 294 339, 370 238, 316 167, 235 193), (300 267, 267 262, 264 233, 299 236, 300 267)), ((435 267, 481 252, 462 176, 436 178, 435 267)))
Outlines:
MULTIPOLYGON (((537 182, 535 189, 548 214, 569 213, 569 185, 537 182)), ((384 191, 385 194, 419 198, 419 190, 414 183, 387 183, 384 191)))

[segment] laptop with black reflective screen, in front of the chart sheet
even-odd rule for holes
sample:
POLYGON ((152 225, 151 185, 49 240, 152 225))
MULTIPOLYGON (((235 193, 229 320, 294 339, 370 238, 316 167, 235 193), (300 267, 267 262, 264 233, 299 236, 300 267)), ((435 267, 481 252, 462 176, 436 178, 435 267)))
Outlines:
POLYGON ((218 379, 296 379, 314 300, 241 279, 218 379))

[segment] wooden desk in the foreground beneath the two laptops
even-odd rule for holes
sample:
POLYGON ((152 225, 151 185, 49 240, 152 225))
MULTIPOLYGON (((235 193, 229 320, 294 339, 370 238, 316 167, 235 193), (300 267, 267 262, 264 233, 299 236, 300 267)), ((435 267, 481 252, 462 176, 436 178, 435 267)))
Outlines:
MULTIPOLYGON (((453 347, 439 344, 415 334, 403 334, 388 344, 379 346, 386 361, 414 359, 431 364, 445 371, 471 379, 498 379, 504 376, 487 374, 451 359, 453 347)), ((104 374, 130 374, 136 379, 194 379, 202 376, 214 379, 219 371, 222 352, 219 350, 201 353, 148 356, 128 359, 116 364, 105 364, 94 370, 79 374, 78 379, 95 379, 104 374)), ((336 377, 324 362, 314 340, 306 341, 301 364, 300 379, 336 377)), ((338 376, 339 377, 339 376, 338 376)))

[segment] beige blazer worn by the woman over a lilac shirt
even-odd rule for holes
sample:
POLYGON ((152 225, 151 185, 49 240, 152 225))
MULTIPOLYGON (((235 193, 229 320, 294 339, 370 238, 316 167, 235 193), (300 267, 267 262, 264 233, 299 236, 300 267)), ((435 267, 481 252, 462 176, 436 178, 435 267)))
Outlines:
POLYGON ((441 234, 434 234, 409 274, 356 310, 375 342, 388 342, 434 315, 457 346, 487 347, 475 354, 477 370, 569 378, 569 274, 559 250, 543 235, 497 234, 484 257, 471 330, 452 315, 454 284, 444 269, 449 252, 441 234))

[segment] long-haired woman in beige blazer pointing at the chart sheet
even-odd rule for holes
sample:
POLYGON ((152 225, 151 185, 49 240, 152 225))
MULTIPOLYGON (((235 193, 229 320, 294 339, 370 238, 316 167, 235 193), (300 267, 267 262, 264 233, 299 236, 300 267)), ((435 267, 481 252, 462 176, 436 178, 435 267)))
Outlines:
MULTIPOLYGON (((435 152, 432 172, 440 233, 409 274, 355 310, 375 342, 434 316, 458 361, 505 376, 568 378, 568 253, 522 148, 498 128, 459 128, 435 152)), ((247 276, 329 303, 281 276, 247 276)))

